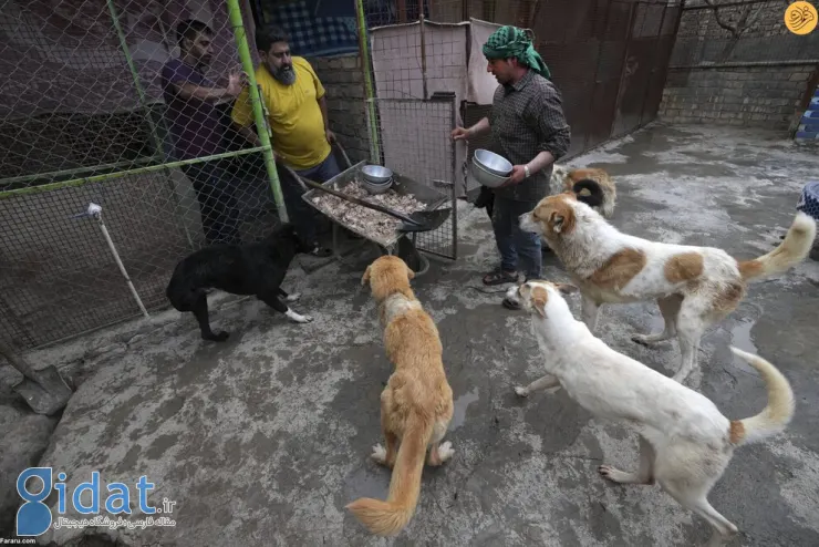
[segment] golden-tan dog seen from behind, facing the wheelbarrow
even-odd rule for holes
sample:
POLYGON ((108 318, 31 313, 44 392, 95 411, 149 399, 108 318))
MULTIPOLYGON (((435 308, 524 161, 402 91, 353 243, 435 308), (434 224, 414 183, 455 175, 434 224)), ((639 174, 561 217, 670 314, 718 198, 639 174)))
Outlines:
POLYGON ((384 256, 367 266, 361 280, 370 283, 379 306, 386 357, 395 367, 381 393, 386 450, 376 445, 372 454, 379 464, 393 468, 393 476, 386 502, 360 498, 346 508, 380 536, 397 534, 415 513, 427 446, 429 465, 440 465, 455 453, 449 442, 438 446, 453 417, 453 390, 444 372, 438 329, 409 288, 414 277, 401 258, 384 256))

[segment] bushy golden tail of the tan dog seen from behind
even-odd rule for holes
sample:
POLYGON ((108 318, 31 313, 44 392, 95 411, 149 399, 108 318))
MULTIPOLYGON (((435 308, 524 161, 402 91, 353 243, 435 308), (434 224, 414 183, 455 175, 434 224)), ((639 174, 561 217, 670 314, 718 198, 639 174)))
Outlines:
POLYGON ((432 422, 417 415, 409 416, 395 458, 386 502, 362 497, 348 504, 346 508, 371 533, 394 536, 413 517, 421 494, 421 474, 432 432, 432 422))

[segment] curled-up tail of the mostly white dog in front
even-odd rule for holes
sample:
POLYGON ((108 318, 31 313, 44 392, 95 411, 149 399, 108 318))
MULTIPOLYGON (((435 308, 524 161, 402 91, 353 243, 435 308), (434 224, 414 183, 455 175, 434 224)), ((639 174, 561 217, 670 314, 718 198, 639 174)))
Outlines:
POLYGON ((759 355, 747 353, 733 345, 730 351, 759 371, 768 388, 768 405, 759 414, 730 421, 728 431, 730 443, 742 446, 780 433, 794 417, 796 406, 790 382, 776 367, 759 355))

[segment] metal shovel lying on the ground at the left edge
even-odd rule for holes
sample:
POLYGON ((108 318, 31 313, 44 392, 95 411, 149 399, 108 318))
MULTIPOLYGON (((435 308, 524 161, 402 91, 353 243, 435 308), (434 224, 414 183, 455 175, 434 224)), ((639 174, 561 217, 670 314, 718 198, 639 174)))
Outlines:
POLYGON ((10 344, 0 340, 0 358, 20 371, 23 380, 11 389, 21 395, 38 414, 50 416, 62 410, 73 394, 54 365, 35 370, 27 363, 10 344))

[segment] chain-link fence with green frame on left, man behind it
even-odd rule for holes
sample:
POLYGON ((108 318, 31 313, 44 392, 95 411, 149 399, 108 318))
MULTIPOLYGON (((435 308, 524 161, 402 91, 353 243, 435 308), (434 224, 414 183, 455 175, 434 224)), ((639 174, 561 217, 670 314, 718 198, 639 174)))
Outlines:
POLYGON ((183 256, 271 230, 272 156, 231 124, 237 44, 246 69, 255 50, 238 2, 0 8, 3 337, 41 345, 164 308, 183 256))

